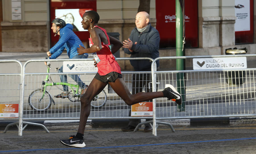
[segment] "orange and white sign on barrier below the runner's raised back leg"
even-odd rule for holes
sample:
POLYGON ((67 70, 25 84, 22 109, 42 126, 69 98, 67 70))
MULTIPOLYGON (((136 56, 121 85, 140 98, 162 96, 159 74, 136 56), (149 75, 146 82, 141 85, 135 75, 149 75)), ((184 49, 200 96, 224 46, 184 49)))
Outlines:
POLYGON ((132 105, 131 116, 153 116, 153 102, 141 102, 132 105))

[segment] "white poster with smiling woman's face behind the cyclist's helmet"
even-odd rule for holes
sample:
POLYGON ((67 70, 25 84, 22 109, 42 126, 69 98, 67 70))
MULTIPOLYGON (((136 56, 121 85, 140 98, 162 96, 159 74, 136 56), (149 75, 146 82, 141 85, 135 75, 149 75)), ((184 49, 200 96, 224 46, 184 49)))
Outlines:
POLYGON ((88 31, 82 28, 82 16, 84 12, 92 9, 55 9, 55 18, 63 19, 66 24, 73 25, 73 31, 88 31))

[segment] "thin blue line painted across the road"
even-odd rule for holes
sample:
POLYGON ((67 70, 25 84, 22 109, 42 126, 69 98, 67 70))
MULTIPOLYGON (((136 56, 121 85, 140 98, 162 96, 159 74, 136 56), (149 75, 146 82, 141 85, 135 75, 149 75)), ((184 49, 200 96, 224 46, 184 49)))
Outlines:
MULTIPOLYGON (((208 140, 208 141, 193 141, 193 142, 176 142, 176 143, 160 143, 160 144, 141 144, 141 145, 124 145, 124 146, 111 146, 111 147, 84 147, 79 149, 99 149, 99 148, 118 148, 118 147, 140 147, 149 145, 170 145, 170 144, 189 144, 189 143, 203 143, 203 142, 220 142, 220 141, 235 141, 235 140, 251 140, 255 138, 235 138, 235 139, 223 139, 223 140, 208 140)), ((0 151, 1 152, 21 152, 21 151, 42 151, 42 150, 69 150, 77 148, 59 148, 59 149, 27 149, 27 150, 10 150, 10 151, 0 151)))

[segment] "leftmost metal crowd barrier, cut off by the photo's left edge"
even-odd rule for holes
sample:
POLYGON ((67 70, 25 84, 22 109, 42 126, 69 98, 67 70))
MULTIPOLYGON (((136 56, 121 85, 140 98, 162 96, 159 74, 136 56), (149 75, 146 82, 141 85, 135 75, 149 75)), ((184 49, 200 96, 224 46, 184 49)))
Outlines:
MULTIPOLYGON (((20 116, 22 112, 16 115, 16 107, 11 107, 13 104, 19 104, 18 110, 20 111, 21 102, 21 83, 22 83, 22 64, 18 60, 0 60, 0 104, 1 106, 0 120, 16 120, 16 116, 20 116), (6 63, 3 65, 3 63, 6 63), (3 66, 2 66, 3 65, 3 66), (20 70, 19 70, 20 69, 20 70), (16 72, 16 73, 15 73, 16 72), (7 106, 6 106, 7 105, 7 106), (12 113, 12 114, 11 114, 12 113), (14 118, 12 118, 14 116, 14 118)), ((18 126, 18 122, 13 123, 18 126)), ((9 127, 11 125, 7 125, 9 127)), ((6 132, 6 130, 5 130, 6 132)))

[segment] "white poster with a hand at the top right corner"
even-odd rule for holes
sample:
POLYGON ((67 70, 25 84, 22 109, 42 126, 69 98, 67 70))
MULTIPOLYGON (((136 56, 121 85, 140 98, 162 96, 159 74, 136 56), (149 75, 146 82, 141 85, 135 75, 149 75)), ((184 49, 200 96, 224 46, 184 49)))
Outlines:
POLYGON ((250 0, 235 0, 235 31, 250 30, 250 0))

